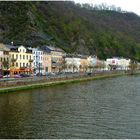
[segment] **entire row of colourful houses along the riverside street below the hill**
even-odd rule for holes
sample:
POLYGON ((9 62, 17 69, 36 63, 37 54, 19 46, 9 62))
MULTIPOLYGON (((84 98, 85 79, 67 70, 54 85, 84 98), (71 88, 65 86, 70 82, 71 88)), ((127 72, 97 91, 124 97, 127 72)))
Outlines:
POLYGON ((93 68, 109 70, 111 68, 128 69, 130 59, 110 58, 99 60, 97 56, 66 54, 53 46, 27 48, 0 44, 0 74, 49 73, 49 72, 85 72, 93 68), (112 67, 113 66, 113 67, 112 67))

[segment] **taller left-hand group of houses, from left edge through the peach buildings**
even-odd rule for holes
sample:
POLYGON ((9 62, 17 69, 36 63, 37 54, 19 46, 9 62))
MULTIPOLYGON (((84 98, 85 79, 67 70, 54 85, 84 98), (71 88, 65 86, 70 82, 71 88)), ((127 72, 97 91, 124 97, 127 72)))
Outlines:
POLYGON ((26 48, 22 45, 0 44, 0 72, 58 72, 64 56, 65 52, 62 49, 51 46, 26 48))

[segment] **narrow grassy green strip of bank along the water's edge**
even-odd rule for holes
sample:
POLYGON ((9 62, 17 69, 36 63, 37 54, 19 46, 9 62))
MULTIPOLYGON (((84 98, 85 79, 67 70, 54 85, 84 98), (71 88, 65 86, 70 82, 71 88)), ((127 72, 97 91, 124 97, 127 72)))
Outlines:
POLYGON ((112 74, 101 74, 101 75, 88 76, 88 77, 75 77, 73 79, 71 79, 71 78, 63 79, 62 78, 62 79, 55 79, 54 81, 48 81, 48 80, 43 81, 43 82, 38 81, 38 83, 33 83, 33 84, 24 83, 23 85, 16 85, 16 86, 12 86, 12 87, 1 87, 0 93, 8 93, 8 92, 42 88, 42 87, 62 85, 62 84, 68 84, 68 83, 84 82, 84 81, 89 81, 89 80, 113 78, 113 77, 123 76, 123 75, 126 75, 126 74, 125 73, 112 73, 112 74))

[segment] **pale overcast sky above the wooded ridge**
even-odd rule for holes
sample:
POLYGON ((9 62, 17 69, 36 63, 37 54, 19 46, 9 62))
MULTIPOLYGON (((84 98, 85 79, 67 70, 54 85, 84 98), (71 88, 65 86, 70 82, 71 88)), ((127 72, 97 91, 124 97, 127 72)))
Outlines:
POLYGON ((74 0, 76 3, 92 3, 101 4, 106 3, 107 5, 115 5, 121 7, 123 11, 134 12, 140 15, 140 0, 74 0))

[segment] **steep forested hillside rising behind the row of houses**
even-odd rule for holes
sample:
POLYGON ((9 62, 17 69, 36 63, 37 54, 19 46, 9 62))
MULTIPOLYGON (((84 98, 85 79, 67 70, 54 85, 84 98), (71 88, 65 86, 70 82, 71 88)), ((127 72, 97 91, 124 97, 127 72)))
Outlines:
POLYGON ((0 42, 140 60, 140 17, 74 2, 0 2, 0 42))

